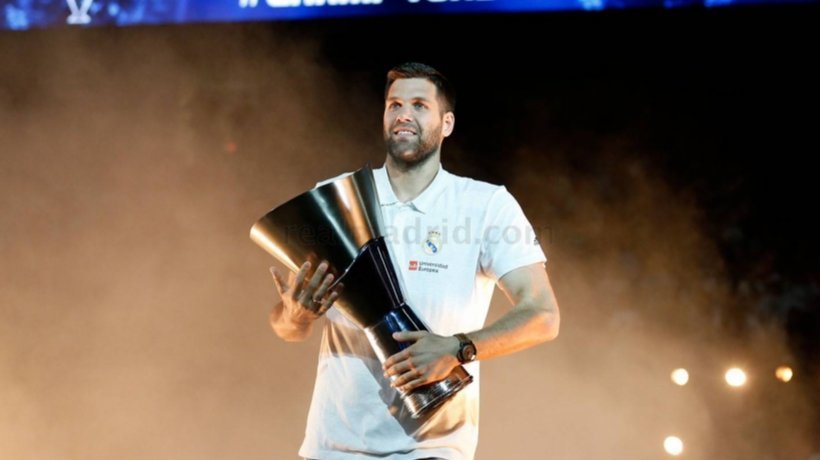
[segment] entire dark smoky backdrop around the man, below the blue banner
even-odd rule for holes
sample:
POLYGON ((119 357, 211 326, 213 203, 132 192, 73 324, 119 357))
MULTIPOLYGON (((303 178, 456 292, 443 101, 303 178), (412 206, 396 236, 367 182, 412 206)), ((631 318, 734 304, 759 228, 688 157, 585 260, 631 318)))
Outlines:
POLYGON ((670 432, 690 458, 808 458, 818 12, 0 33, 0 456, 295 456, 318 337, 270 333, 247 231, 380 164, 384 75, 418 60, 458 91, 445 167, 518 198, 562 308, 554 344, 482 368, 478 458, 658 458, 670 432))

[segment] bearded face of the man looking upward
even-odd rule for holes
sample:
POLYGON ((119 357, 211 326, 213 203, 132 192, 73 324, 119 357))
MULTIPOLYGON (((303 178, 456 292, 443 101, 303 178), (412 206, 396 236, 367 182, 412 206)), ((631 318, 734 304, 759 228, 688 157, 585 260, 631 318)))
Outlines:
POLYGON ((399 165, 424 164, 453 129, 452 112, 442 113, 436 86, 424 78, 393 82, 384 107, 387 154, 399 165))

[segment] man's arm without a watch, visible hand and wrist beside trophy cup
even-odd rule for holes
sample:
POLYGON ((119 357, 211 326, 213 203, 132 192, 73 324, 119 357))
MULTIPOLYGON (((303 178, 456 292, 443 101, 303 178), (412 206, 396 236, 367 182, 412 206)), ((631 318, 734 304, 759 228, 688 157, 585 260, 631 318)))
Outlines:
POLYGON ((319 264, 307 283, 305 280, 310 271, 310 262, 302 264, 295 275, 290 273, 287 281, 274 267, 270 271, 282 298, 271 310, 271 328, 285 341, 301 342, 310 336, 313 322, 325 314, 339 297, 339 289, 329 291, 333 275, 326 274, 327 262, 319 264))

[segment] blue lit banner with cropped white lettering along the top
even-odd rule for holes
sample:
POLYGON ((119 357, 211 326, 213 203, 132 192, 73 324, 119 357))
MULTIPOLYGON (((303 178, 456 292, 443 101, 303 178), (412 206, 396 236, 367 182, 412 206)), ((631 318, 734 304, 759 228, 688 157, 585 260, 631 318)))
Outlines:
POLYGON ((820 0, 0 0, 0 29, 304 20, 407 14, 724 7, 820 0))

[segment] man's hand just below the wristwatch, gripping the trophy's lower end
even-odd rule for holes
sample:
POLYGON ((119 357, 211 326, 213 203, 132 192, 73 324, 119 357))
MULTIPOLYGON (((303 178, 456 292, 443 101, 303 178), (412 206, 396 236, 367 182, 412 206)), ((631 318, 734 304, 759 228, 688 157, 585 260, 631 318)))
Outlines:
POLYGON ((393 338, 399 342, 415 342, 384 362, 385 378, 395 376, 390 385, 402 393, 444 380, 460 364, 456 358, 459 342, 455 337, 406 331, 394 333, 393 338))

